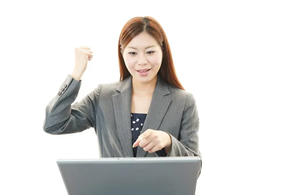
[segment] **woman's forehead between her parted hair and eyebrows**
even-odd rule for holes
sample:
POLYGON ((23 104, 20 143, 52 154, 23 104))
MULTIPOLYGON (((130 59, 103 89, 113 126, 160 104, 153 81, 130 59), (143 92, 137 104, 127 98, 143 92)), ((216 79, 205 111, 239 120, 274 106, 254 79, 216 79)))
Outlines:
POLYGON ((155 45, 159 46, 158 41, 153 38, 151 35, 147 34, 146 32, 143 32, 133 38, 129 44, 126 46, 127 47, 135 47, 135 48, 146 48, 148 46, 155 45))

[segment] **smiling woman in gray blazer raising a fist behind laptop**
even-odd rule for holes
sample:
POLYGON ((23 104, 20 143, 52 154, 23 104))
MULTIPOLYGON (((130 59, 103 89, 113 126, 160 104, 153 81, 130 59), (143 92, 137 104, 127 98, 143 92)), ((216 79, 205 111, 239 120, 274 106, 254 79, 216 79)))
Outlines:
POLYGON ((46 107, 45 132, 82 132, 93 127, 101 157, 201 156, 195 99, 176 77, 167 37, 151 17, 136 17, 122 29, 120 81, 100 84, 77 98, 93 52, 75 50, 75 67, 46 107))

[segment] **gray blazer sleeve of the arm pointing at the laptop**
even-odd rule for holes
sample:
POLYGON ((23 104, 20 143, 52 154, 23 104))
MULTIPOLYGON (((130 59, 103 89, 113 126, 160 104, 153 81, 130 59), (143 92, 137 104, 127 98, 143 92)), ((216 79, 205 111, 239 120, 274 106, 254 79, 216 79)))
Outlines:
MULTIPOLYGON (((172 140, 171 150, 166 155, 167 156, 199 156, 201 158, 201 153, 199 151, 198 143, 198 131, 199 131, 199 117, 196 107, 196 102, 191 93, 188 94, 186 99, 185 109, 181 119, 180 133, 178 139, 173 137, 171 134, 169 136, 172 140)), ((163 153, 156 153, 157 156, 164 156, 163 153)), ((200 164, 201 172, 202 160, 200 164)), ((200 173, 199 173, 200 174, 200 173)))

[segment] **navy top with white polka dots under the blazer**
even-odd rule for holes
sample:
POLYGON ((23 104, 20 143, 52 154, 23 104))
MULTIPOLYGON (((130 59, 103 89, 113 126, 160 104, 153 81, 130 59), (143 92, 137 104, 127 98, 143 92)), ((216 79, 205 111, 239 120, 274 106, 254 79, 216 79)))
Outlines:
MULTIPOLYGON (((132 145, 138 139, 146 120, 146 114, 131 113, 132 145)), ((136 157, 137 147, 133 148, 133 155, 136 157)))

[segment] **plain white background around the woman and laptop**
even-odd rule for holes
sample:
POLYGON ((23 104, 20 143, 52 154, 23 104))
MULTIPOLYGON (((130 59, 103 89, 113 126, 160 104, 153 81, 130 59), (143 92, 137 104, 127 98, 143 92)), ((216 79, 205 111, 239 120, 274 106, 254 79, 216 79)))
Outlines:
POLYGON ((122 27, 151 16, 196 98, 196 194, 292 195, 292 10, 290 0, 1 1, 0 194, 65 195, 56 159, 99 157, 93 129, 44 133, 45 106, 71 74, 75 47, 95 55, 77 101, 118 81, 122 27))

